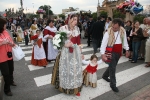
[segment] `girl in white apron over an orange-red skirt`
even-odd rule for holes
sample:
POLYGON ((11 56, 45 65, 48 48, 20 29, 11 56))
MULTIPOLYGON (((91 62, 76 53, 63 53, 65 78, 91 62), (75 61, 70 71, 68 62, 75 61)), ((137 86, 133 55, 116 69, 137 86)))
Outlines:
POLYGON ((43 36, 40 35, 40 31, 36 31, 36 35, 31 37, 32 43, 33 43, 33 51, 32 51, 32 59, 31 64, 35 66, 43 66, 46 67, 47 61, 46 61, 46 55, 43 48, 43 36))

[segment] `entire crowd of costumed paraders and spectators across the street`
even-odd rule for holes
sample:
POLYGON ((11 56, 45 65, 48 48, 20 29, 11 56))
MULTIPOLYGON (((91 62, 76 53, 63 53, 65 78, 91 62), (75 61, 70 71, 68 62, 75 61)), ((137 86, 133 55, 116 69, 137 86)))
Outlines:
POLYGON ((25 23, 21 17, 18 17, 18 21, 14 20, 11 20, 10 27, 10 21, 0 19, 0 52, 3 54, 0 57, 0 70, 5 81, 4 92, 8 96, 12 96, 10 85, 16 86, 13 81, 12 58, 12 47, 16 42, 25 41, 27 46, 28 42, 32 43, 31 64, 34 66, 46 67, 51 61, 55 61, 51 84, 66 94, 80 96, 83 84, 95 88, 97 67, 102 62, 109 66, 102 78, 110 82, 114 92, 119 92, 116 87, 115 72, 119 58, 124 54, 131 63, 145 60, 147 63, 145 67, 150 67, 150 17, 144 18, 143 23, 123 22, 120 18, 112 20, 110 17, 105 20, 104 16, 93 21, 91 16, 89 19, 84 19, 76 14, 70 14, 66 21, 34 18, 32 23, 28 21, 26 25, 21 24, 25 23), (89 61, 86 61, 82 54, 82 30, 84 38, 87 36, 87 47, 91 42, 93 46, 93 55, 89 61), (67 40, 61 51, 55 49, 52 44, 57 31, 67 34, 67 40), (96 56, 99 52, 98 48, 101 53, 100 60, 96 56), (110 52, 106 52, 107 50, 110 52), (87 65, 84 70, 82 63, 87 65))

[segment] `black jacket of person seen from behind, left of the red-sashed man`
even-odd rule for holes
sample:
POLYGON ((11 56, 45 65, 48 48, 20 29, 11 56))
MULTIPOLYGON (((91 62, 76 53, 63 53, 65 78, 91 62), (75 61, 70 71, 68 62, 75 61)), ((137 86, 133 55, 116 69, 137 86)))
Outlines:
POLYGON ((93 39, 102 39, 103 31, 104 31, 104 24, 100 21, 97 21, 93 24, 90 33, 92 33, 93 39))

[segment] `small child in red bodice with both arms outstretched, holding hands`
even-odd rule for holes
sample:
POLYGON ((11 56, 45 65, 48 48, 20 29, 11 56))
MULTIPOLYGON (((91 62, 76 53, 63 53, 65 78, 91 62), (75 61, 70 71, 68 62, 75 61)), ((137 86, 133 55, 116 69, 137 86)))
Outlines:
POLYGON ((98 64, 102 63, 102 60, 98 60, 96 55, 92 55, 90 61, 82 60, 83 64, 86 64, 87 67, 83 71, 83 83, 88 86, 97 87, 97 67, 98 64))

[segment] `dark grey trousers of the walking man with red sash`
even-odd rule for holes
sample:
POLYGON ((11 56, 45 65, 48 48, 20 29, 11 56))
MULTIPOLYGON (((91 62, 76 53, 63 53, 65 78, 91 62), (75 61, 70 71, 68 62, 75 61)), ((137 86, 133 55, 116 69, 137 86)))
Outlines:
POLYGON ((118 64, 120 58, 119 53, 112 53, 112 60, 109 64, 109 67, 106 69, 106 71, 103 74, 103 77, 108 78, 110 76, 110 86, 116 86, 116 66, 118 64))

